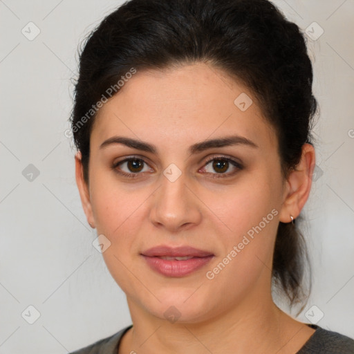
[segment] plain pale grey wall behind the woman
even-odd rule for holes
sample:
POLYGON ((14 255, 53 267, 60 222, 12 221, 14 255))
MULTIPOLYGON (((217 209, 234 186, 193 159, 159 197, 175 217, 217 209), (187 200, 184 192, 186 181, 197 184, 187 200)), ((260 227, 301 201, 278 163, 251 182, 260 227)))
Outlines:
MULTIPOLYGON (((125 295, 93 248, 64 135, 77 48, 120 3, 0 0, 0 353, 68 353, 131 324, 125 295)), ((274 3, 312 36, 320 106, 302 225, 313 292, 298 319, 354 338, 354 1, 274 3)))

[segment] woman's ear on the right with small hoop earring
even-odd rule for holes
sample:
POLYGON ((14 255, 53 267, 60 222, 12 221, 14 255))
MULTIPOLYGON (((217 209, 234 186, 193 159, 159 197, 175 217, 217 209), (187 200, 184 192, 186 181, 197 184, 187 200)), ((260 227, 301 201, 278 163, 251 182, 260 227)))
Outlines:
POLYGON ((301 160, 286 181, 283 194, 283 205, 279 220, 290 223, 290 215, 295 219, 299 216, 310 195, 313 170, 315 169, 315 149, 308 143, 302 147, 301 160))

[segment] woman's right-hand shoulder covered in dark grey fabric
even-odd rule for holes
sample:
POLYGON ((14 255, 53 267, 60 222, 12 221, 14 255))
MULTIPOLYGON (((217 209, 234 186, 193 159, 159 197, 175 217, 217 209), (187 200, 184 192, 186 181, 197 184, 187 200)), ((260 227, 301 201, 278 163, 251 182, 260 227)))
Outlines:
POLYGON ((353 354, 354 339, 319 326, 297 354, 353 354))

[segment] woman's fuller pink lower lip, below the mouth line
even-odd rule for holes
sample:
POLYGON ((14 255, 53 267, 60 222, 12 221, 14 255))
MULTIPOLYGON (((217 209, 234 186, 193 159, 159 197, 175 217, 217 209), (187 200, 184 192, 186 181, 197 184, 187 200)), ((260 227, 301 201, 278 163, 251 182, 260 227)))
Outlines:
POLYGON ((205 264, 209 263, 214 256, 195 257, 186 259, 185 261, 176 261, 176 259, 168 261, 167 259, 147 257, 144 255, 142 255, 142 257, 146 259, 151 269, 166 277, 184 277, 202 268, 205 264))

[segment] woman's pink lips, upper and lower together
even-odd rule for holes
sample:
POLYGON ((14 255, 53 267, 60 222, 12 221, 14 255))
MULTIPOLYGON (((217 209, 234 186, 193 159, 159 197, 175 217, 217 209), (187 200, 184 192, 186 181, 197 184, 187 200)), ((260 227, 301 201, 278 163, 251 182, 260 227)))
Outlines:
POLYGON ((166 277, 184 277, 187 274, 195 272, 203 265, 207 264, 214 254, 197 250, 189 246, 178 248, 170 248, 168 246, 158 246, 150 248, 142 253, 142 257, 147 261, 152 270, 165 275, 166 277), (176 259, 167 260, 158 257, 193 257, 185 261, 178 261, 176 259))

